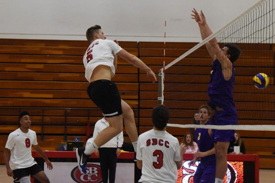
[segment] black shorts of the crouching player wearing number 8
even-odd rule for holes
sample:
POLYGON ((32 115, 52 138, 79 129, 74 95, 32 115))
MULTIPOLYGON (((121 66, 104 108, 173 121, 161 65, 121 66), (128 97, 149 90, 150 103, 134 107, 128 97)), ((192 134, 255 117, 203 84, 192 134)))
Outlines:
POLYGON ((15 183, 19 182, 19 179, 25 176, 33 176, 37 174, 38 172, 42 171, 41 167, 38 166, 38 164, 34 164, 31 167, 27 168, 19 168, 13 170, 13 179, 15 183))

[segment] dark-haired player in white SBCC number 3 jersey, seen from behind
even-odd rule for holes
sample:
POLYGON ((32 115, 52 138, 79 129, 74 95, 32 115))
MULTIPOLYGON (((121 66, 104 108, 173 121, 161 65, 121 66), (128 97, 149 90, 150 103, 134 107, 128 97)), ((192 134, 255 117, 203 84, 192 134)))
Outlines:
POLYGON ((142 169, 142 183, 174 183, 177 169, 182 167, 182 156, 186 147, 179 145, 178 139, 166 132, 170 114, 164 105, 152 111, 152 130, 138 137, 137 166, 142 169))

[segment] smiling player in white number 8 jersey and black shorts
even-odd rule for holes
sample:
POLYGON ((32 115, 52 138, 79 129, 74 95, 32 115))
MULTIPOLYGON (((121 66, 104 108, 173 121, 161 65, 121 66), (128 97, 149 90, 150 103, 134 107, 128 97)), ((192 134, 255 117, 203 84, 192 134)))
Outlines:
POLYGON ((14 183, 31 183, 28 176, 31 175, 42 183, 50 183, 44 171, 31 156, 31 146, 45 160, 48 169, 53 169, 52 163, 39 147, 36 133, 30 128, 31 118, 27 111, 19 114, 20 128, 9 134, 5 149, 4 161, 8 176, 14 178, 14 183), (11 156, 9 158, 9 151, 11 156))

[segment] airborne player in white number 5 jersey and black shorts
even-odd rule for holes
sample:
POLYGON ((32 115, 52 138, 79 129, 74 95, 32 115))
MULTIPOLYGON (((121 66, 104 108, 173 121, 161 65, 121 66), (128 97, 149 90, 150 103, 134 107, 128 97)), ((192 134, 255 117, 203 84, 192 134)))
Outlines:
POLYGON ((157 81, 154 72, 139 58, 123 50, 116 40, 106 40, 101 26, 90 27, 86 31, 86 38, 90 42, 90 46, 83 57, 85 77, 90 82, 87 93, 90 99, 101 109, 105 118, 108 118, 110 126, 102 130, 90 146, 76 149, 81 173, 86 173, 85 166, 90 154, 122 131, 123 118, 126 132, 134 150, 137 149, 138 132, 134 112, 126 102, 121 100, 116 84, 111 82, 111 78, 116 72, 117 55, 130 64, 145 70, 147 77, 152 82, 157 81))

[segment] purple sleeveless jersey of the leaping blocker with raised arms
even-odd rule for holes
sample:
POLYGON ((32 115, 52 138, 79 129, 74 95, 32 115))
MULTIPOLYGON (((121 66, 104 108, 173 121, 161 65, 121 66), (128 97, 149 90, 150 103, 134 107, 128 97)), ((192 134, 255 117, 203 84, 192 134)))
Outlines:
POLYGON ((235 81, 235 67, 232 64, 232 76, 226 81, 222 74, 221 63, 216 59, 211 69, 211 80, 208 85, 207 95, 210 100, 208 105, 215 109, 220 107, 225 111, 236 113, 235 102, 233 99, 233 85, 235 81))

